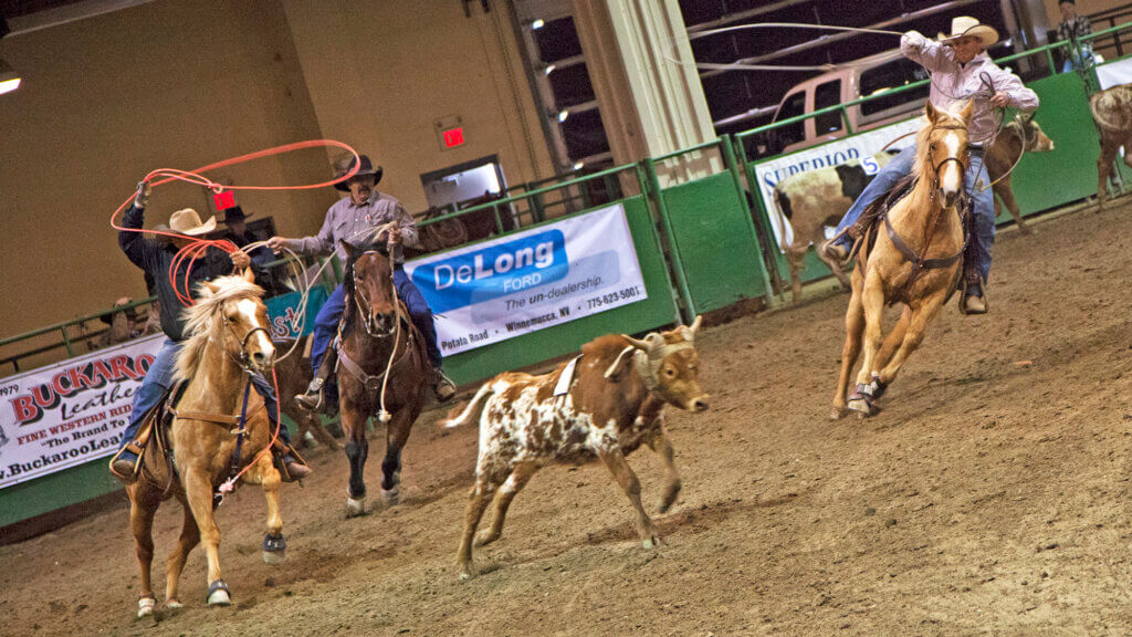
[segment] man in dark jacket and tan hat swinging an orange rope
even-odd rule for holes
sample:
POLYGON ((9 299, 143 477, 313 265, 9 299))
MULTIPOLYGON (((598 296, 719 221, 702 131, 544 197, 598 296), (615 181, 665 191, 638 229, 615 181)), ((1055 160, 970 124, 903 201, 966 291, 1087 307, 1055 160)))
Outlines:
MULTIPOLYGON (((137 195, 134 197, 134 205, 126 211, 122 219, 125 228, 142 229, 144 224, 145 206, 148 203, 148 184, 138 184, 137 195)), ((161 329, 165 332, 165 342, 157 353, 156 358, 149 365, 142 388, 134 397, 134 406, 130 411, 130 422, 122 432, 119 443, 119 452, 111 460, 110 470, 127 484, 137 479, 138 455, 145 447, 145 441, 135 441, 142 424, 154 408, 158 406, 162 398, 173 384, 173 365, 177 355, 187 338, 185 318, 180 315, 181 301, 171 281, 170 271, 173 267, 178 250, 188 246, 199 237, 212 231, 216 227, 216 219, 212 218, 207 222, 201 222, 200 216, 192 209, 179 210, 172 214, 168 227, 158 229, 178 235, 169 237, 168 243, 158 243, 146 239, 143 232, 121 231, 118 233, 118 245, 129 257, 130 262, 140 267, 152 277, 154 291, 156 292, 158 305, 161 306, 161 329)), ((209 247, 205 255, 195 263, 189 264, 189 260, 178 267, 173 273, 178 287, 187 284, 192 294, 197 294, 197 283, 211 280, 215 277, 228 274, 232 266, 238 269, 249 267, 251 258, 242 253, 231 254, 231 258, 223 250, 209 247), (186 279, 188 281, 186 282, 186 279)), ((263 375, 257 374, 252 379, 252 384, 259 396, 267 405, 268 417, 272 425, 275 425, 277 414, 275 407, 275 392, 271 383, 263 375)), ((148 435, 148 427, 143 432, 143 438, 148 435)), ((302 479, 310 474, 310 468, 306 466, 294 453, 291 452, 291 440, 286 427, 280 427, 280 438, 274 450, 283 467, 283 479, 302 479)))

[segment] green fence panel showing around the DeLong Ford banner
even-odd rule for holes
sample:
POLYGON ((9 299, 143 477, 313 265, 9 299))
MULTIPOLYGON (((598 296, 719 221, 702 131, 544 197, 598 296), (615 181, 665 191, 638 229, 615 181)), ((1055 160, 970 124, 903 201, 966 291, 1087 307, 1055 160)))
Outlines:
POLYGON ((631 197, 619 203, 625 207, 649 297, 640 303, 447 357, 444 368, 456 383, 483 380, 506 370, 577 351, 583 343, 602 334, 644 332, 679 320, 668 266, 644 197, 631 197))

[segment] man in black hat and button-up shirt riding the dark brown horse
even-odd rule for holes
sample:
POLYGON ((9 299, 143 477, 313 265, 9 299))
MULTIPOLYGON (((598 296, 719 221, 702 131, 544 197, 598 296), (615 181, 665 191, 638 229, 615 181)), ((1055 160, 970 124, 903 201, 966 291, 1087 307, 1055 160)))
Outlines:
MULTIPOLYGON (((440 348, 437 347, 436 326, 432 324, 432 311, 429 309, 428 301, 421 296, 420 290, 405 274, 404 269, 400 266, 404 261, 398 249, 400 245, 402 243, 410 247, 420 245, 417 226, 401 202, 376 189, 377 184, 381 180, 381 167, 374 168, 366 155, 360 155, 359 160, 358 171, 353 177, 334 185, 338 190, 349 192, 350 196, 343 197, 331 206, 318 235, 301 239, 272 237, 267 240, 267 245, 276 253, 288 248, 307 255, 328 254, 336 248, 338 258, 342 260, 342 263, 346 263, 349 254, 341 241, 349 244, 388 243, 395 253, 398 265, 393 272, 397 296, 405 303, 413 325, 420 330, 426 340, 428 358, 432 367, 434 392, 438 400, 448 400, 456 394, 456 385, 448 380, 441 368, 440 348)), ((350 164, 338 172, 338 177, 349 173, 354 168, 354 162, 355 160, 351 158, 350 164)), ((338 331, 344 309, 345 291, 343 286, 338 286, 315 318, 315 336, 310 348, 310 363, 315 368, 315 379, 307 388, 307 393, 295 397, 300 405, 314 411, 333 410, 337 402, 337 388, 332 381, 332 375, 337 365, 338 353, 336 348, 329 346, 338 331)))

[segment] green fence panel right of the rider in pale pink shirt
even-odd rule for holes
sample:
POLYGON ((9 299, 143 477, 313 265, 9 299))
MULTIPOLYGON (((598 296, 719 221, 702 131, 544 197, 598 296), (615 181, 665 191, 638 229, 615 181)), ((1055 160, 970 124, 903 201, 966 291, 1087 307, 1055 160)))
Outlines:
MULTIPOLYGON (((1075 73, 1028 84, 1041 105, 1034 119, 1054 142, 1048 153, 1027 153, 1010 176, 1022 215, 1036 214, 1097 192, 1100 141, 1089 112, 1084 82, 1075 73)), ((998 223, 1010 221, 1000 206, 998 223)))

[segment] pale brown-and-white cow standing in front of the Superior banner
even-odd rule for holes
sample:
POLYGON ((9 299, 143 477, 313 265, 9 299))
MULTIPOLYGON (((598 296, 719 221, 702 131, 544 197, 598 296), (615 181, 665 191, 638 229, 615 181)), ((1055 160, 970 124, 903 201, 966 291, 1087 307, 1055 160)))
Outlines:
MULTIPOLYGON (((779 222, 786 228, 787 220, 794 229, 791 243, 783 239, 781 247, 790 267, 791 300, 801 299, 801 269, 809 244, 825 240, 825 227, 837 226, 861 190, 873 180, 876 171, 892 161, 895 153, 882 152, 873 155, 869 171, 861 162, 851 160, 830 168, 820 168, 791 175, 774 186, 774 209, 779 222)), ((783 231, 783 236, 786 232, 783 231)), ((841 271, 841 264, 826 261, 821 250, 817 256, 825 262, 841 286, 849 289, 849 277, 841 271)))

